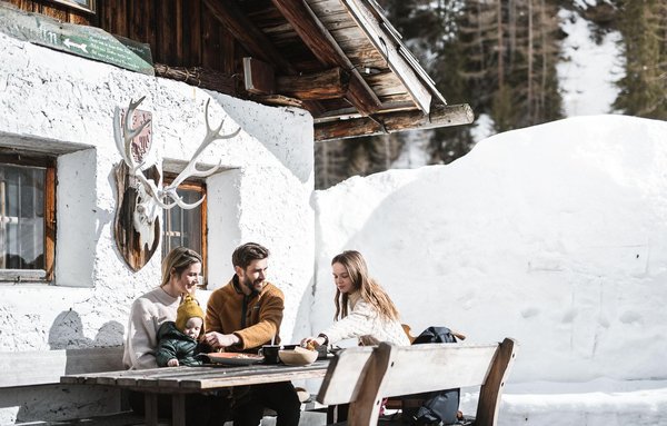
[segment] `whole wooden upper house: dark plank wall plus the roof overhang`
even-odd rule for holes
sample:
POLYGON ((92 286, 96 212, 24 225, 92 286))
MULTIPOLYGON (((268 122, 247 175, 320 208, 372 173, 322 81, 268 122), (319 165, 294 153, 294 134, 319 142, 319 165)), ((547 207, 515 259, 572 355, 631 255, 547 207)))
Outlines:
POLYGON ((305 108, 318 141, 474 119, 447 105, 375 0, 108 0, 93 13, 9 1, 149 44, 160 77, 305 108))

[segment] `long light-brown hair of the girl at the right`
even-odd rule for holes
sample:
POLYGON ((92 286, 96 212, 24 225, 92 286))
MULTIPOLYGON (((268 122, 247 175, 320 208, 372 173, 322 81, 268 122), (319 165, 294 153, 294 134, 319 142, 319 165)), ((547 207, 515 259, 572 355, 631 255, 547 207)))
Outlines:
MULTIPOLYGON (((372 305, 374 308, 386 320, 398 320, 398 309, 389 298, 389 295, 385 289, 368 275, 368 267, 366 260, 359 251, 346 250, 340 255, 336 255, 331 260, 331 265, 340 264, 347 270, 352 286, 356 291, 359 291, 361 298, 372 305)), ((338 320, 348 316, 348 294, 341 294, 339 289, 336 289, 336 297, 334 298, 336 304, 336 316, 334 319, 338 320)))

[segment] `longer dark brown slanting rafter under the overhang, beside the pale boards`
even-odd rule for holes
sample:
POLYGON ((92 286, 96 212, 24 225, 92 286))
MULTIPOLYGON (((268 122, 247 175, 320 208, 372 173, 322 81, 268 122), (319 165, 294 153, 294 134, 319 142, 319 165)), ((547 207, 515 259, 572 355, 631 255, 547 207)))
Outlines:
POLYGON ((381 102, 375 91, 364 80, 308 3, 305 0, 271 0, 271 2, 322 65, 340 67, 350 72, 349 90, 346 99, 362 116, 369 116, 378 111, 381 102))

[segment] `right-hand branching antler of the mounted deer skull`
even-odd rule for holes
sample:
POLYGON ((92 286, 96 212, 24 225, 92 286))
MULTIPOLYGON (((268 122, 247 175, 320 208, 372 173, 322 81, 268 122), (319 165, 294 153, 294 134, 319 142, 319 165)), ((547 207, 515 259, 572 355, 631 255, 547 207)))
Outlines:
POLYGON ((171 198, 173 200, 173 204, 178 205, 182 209, 192 209, 192 208, 199 206, 203 201, 205 197, 201 197, 201 199, 199 199, 196 202, 187 204, 176 192, 179 185, 181 185, 186 179, 193 177, 193 176, 200 177, 200 178, 206 178, 207 176, 211 176, 212 174, 218 171, 218 169, 220 169, 220 167, 221 167, 221 160, 220 160, 220 161, 218 161, 218 164, 216 166, 212 166, 206 170, 198 170, 197 169, 197 160, 199 159, 199 157, 201 156, 203 150, 212 141, 218 140, 218 139, 233 138, 235 136, 237 136, 239 133, 239 131, 241 131, 241 128, 239 127, 238 129, 236 129, 236 131, 233 131, 229 135, 220 135, 220 130, 222 130, 222 125, 225 125, 225 119, 222 119, 222 121, 220 121, 220 126, 218 126, 216 129, 211 129, 211 127, 209 125, 209 118, 208 118, 209 117, 209 115, 208 115, 209 102, 210 102, 210 99, 208 99, 206 101, 205 118, 206 118, 206 130, 207 131, 206 131, 206 136, 203 137, 203 140, 201 141, 201 145, 199 146, 199 148, 197 148, 197 151, 195 151, 192 159, 190 159, 190 162, 188 162, 188 166, 186 166, 183 171, 181 171, 169 186, 165 187, 165 189, 162 189, 160 191, 162 197, 171 198))

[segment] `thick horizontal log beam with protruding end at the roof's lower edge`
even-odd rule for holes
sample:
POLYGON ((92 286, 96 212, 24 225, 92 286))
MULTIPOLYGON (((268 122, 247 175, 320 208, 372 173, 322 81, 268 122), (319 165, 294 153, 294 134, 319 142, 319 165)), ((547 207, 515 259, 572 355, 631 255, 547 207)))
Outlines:
POLYGON ((402 130, 434 129, 437 127, 469 125, 475 119, 468 103, 435 105, 430 113, 422 111, 389 112, 375 117, 349 120, 323 121, 315 125, 315 140, 318 142, 356 138, 360 136, 394 133, 402 130))

